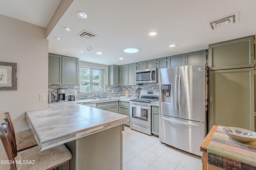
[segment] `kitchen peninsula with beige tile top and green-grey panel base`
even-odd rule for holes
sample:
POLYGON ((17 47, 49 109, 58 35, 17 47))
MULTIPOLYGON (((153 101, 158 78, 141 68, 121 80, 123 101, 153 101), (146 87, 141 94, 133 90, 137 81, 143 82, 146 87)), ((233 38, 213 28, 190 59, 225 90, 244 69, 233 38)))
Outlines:
POLYGON ((72 153, 70 169, 122 169, 122 125, 128 116, 75 101, 25 116, 41 150, 65 143, 72 153))

